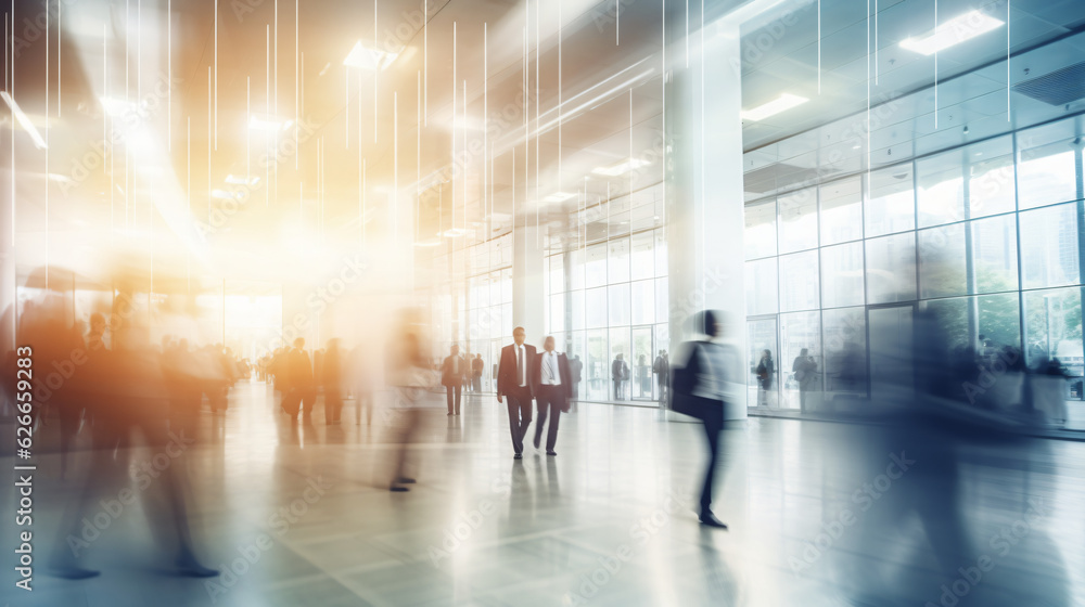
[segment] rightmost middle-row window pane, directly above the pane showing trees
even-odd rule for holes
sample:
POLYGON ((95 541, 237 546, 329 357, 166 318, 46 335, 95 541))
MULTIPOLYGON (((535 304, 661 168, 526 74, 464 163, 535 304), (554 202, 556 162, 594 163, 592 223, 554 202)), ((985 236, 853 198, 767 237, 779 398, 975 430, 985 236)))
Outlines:
POLYGON ((1077 209, 1061 205, 1020 214, 1024 288, 1077 284, 1077 209))

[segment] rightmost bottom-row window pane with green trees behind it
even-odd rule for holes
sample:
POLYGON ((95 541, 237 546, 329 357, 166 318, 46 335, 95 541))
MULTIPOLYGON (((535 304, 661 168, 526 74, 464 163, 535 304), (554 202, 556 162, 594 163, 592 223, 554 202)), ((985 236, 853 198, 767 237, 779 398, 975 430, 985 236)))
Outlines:
POLYGON ((1025 352, 1030 365, 1057 358, 1073 377, 1067 397, 1082 398, 1082 297, 1080 288, 1034 290, 1024 294, 1025 352))

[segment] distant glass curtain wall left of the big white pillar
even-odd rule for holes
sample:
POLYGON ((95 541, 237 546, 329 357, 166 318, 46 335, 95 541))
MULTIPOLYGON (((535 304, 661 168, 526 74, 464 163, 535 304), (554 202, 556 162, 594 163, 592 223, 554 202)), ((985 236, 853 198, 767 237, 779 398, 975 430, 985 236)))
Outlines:
POLYGON ((547 334, 579 359, 580 400, 654 406, 655 361, 671 347, 663 188, 599 207, 607 238, 546 257, 547 334))

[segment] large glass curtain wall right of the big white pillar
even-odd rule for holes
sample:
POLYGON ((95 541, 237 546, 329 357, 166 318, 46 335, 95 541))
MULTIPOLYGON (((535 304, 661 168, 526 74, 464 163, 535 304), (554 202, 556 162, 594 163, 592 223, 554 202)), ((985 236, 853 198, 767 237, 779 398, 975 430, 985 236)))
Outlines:
POLYGON ((831 411, 898 384, 880 336, 919 310, 953 347, 1057 357, 1081 401, 1081 134, 1070 118, 748 202, 748 404, 831 411))

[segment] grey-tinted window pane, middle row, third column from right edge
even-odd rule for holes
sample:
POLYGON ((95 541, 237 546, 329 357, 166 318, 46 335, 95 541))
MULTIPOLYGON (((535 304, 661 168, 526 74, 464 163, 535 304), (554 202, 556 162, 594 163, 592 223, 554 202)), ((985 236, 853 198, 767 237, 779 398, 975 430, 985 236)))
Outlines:
POLYGON ((919 231, 919 298, 968 293, 965 224, 919 231))

